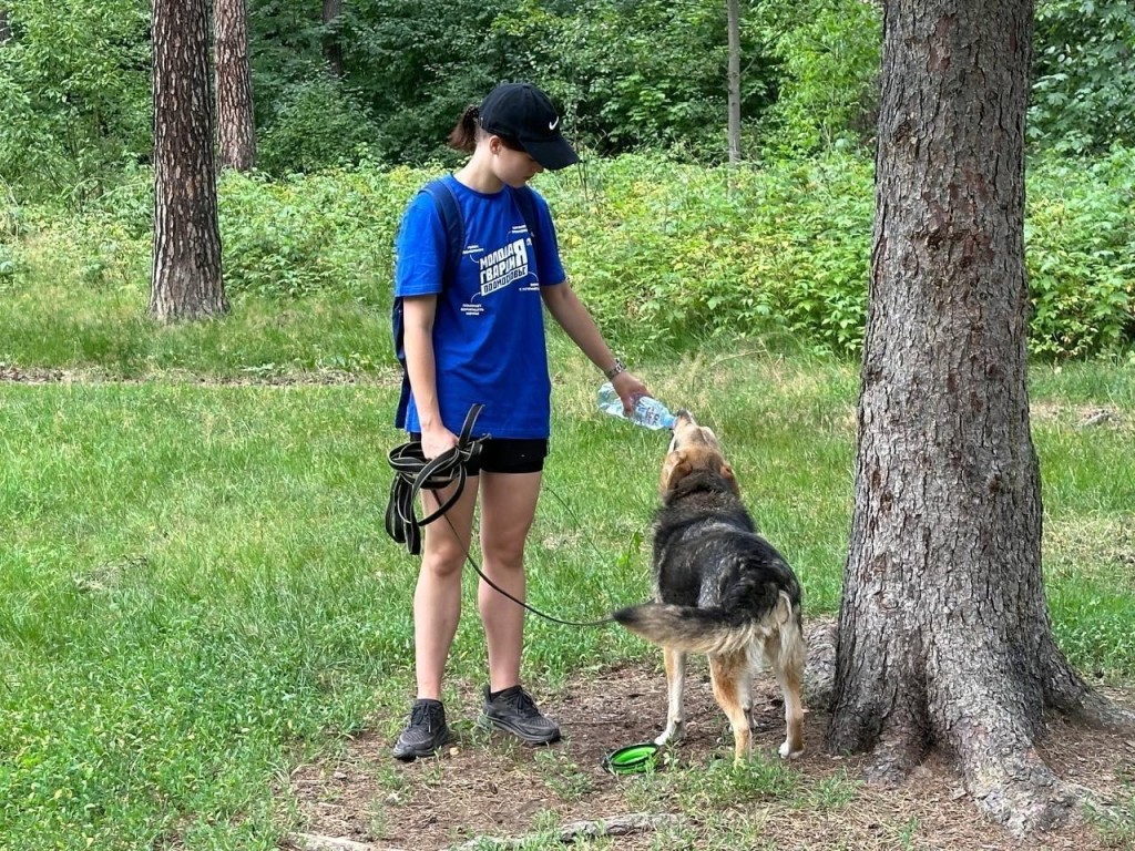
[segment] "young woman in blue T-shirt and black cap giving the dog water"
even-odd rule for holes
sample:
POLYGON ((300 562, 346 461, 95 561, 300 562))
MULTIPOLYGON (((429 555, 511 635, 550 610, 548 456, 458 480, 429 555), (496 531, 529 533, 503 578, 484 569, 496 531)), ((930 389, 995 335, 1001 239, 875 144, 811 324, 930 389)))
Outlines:
MULTIPOLYGON (((480 108, 462 113, 448 138, 451 146, 472 154, 464 168, 443 178, 464 225, 456 273, 445 275, 447 230, 431 195, 417 195, 398 231, 394 295, 401 303, 411 388, 405 428, 411 439, 421 440, 426 458, 437 457, 457 444, 465 414, 480 402, 485 408, 474 436, 490 436, 466 467, 461 498, 423 530, 414 591, 418 699, 394 747, 398 759, 429 756, 449 740, 442 676, 461 613, 461 571, 478 497, 481 570, 524 599, 524 541, 550 423, 541 304, 611 379, 628 410, 648 395, 612 354, 568 284, 547 203, 532 193, 536 233, 529 233, 515 200, 516 191, 544 169, 578 162, 561 130, 560 115, 536 86, 494 89, 480 108)), ((423 516, 451 492, 423 490, 423 516)), ((484 581, 477 603, 489 668, 481 722, 529 744, 556 741, 558 726, 520 684, 524 610, 484 581)))

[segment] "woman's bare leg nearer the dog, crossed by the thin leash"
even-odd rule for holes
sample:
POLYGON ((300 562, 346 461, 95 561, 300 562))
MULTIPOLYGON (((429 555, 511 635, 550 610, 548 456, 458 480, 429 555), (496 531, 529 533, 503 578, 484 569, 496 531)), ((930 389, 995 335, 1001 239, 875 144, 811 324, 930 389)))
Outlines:
MULTIPOLYGON (((541 473, 481 472, 481 570, 519 600, 524 599, 524 541, 536 516, 541 473)), ((477 590, 489 656, 489 689, 520 683, 524 609, 485 581, 477 590)))

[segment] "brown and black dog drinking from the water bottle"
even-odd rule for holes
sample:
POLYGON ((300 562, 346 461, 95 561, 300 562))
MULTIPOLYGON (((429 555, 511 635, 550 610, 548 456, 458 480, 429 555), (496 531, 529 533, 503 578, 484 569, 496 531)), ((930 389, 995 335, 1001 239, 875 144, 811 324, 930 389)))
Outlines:
POLYGON ((800 583, 757 533, 712 429, 678 414, 654 521, 655 603, 620 609, 619 623, 663 648, 669 709, 655 742, 678 741, 686 713, 686 654, 709 656, 717 703, 733 728, 734 761, 751 749, 753 680, 762 657, 784 694, 789 758, 804 750, 800 682, 806 649, 800 583))

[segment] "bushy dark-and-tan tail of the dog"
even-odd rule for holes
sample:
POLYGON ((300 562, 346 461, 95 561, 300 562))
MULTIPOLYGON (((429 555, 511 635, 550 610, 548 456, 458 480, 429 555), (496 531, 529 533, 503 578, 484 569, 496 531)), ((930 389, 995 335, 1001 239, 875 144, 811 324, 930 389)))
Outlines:
POLYGON ((673 650, 724 655, 771 638, 775 632, 799 632, 799 607, 781 591, 776 607, 764 617, 754 617, 723 608, 672 606, 645 603, 619 609, 612 615, 640 638, 673 650))

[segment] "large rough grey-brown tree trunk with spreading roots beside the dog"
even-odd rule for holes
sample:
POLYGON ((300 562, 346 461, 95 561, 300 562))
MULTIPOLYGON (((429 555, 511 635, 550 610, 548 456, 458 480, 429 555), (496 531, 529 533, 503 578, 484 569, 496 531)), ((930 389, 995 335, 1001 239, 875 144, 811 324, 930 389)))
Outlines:
POLYGON ((1017 833, 1075 815, 1045 707, 1129 723, 1052 639, 1029 437, 1024 124, 1031 0, 885 9, 856 507, 835 751, 898 780, 931 747, 1017 833))

